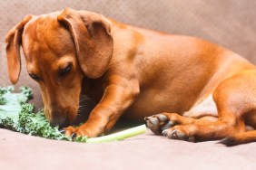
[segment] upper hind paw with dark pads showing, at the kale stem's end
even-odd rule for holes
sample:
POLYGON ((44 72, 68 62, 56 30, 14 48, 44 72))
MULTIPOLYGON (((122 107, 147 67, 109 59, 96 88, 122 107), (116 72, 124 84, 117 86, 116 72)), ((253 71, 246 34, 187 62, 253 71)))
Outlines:
POLYGON ((173 121, 164 114, 153 115, 152 117, 146 117, 144 119, 146 126, 157 135, 161 135, 163 130, 174 126, 173 121))

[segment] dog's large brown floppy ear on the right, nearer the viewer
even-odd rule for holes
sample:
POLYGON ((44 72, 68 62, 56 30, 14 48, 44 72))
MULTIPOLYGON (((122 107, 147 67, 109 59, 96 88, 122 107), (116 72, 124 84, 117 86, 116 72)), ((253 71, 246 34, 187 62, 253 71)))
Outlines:
POLYGON ((58 21, 72 34, 78 61, 85 75, 99 78, 113 55, 112 25, 101 14, 66 8, 58 21))

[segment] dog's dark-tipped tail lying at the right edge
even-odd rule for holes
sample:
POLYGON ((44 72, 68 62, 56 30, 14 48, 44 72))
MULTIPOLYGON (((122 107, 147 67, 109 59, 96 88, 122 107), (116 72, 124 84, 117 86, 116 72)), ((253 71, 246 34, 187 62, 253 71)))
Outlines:
POLYGON ((223 138, 220 143, 226 146, 236 146, 250 142, 256 142, 256 130, 236 133, 231 137, 223 138))

